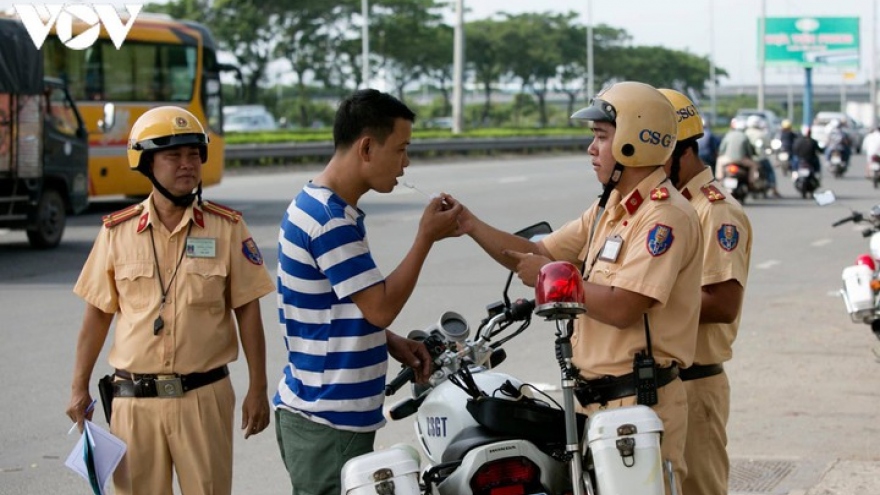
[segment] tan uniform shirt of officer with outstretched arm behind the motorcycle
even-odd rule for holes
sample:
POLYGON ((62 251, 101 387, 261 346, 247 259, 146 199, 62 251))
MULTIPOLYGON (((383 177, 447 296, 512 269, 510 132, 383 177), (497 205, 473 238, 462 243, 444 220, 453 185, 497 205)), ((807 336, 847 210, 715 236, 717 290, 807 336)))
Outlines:
MULTIPOLYGON (((578 267, 586 260, 590 282, 654 299, 647 313, 654 359, 661 367, 690 366, 697 340, 703 251, 696 212, 662 168, 625 199, 616 190, 611 193, 590 242, 597 210, 598 202, 541 242, 556 260, 578 267), (622 244, 616 258, 597 259, 618 236, 622 244)), ((646 348, 644 320, 617 328, 590 318, 588 311, 578 318, 572 345, 572 361, 584 378, 631 373, 633 356, 646 348)))

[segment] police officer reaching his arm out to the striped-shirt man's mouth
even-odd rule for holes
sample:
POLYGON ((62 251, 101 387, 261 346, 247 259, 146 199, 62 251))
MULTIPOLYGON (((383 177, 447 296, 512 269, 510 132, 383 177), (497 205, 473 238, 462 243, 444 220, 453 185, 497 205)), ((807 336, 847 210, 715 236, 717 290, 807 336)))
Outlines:
POLYGON ((657 402, 647 405, 663 421, 662 454, 681 493, 687 398, 678 369, 691 365, 696 345, 702 240, 694 209, 663 170, 675 146, 672 112, 659 91, 638 82, 615 84, 576 112, 573 119, 591 123, 589 154, 603 194, 541 241, 497 230, 468 210, 460 221, 526 285, 550 261, 584 268, 587 312, 572 338, 582 412, 645 403, 633 373, 637 354, 647 361, 650 335, 657 402))

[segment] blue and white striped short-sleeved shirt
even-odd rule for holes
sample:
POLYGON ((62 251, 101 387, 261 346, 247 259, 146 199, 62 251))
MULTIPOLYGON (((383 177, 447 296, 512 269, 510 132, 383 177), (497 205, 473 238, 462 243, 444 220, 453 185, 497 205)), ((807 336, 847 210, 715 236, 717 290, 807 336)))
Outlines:
POLYGON ((307 184, 278 235, 278 316, 288 364, 273 404, 342 430, 373 431, 382 416, 388 349, 351 295, 384 280, 364 213, 307 184))

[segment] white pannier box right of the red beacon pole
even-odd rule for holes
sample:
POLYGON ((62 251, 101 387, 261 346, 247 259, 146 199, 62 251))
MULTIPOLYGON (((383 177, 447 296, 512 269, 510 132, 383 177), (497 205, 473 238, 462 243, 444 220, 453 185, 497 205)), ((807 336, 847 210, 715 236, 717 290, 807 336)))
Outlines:
POLYGON ((662 433, 663 422, 647 406, 594 413, 587 440, 596 471, 596 491, 601 495, 664 495, 662 433))

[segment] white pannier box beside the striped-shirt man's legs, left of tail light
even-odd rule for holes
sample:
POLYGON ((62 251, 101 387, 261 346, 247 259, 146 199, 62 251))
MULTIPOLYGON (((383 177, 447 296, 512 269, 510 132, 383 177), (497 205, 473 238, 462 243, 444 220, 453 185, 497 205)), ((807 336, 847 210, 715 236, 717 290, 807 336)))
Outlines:
POLYGON ((349 459, 342 466, 343 495, 387 493, 411 495, 419 488, 419 453, 408 445, 394 445, 349 459))

